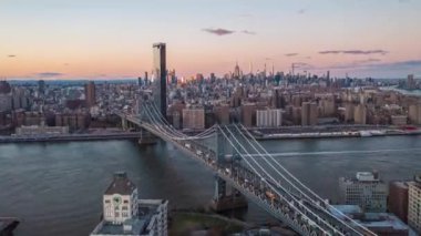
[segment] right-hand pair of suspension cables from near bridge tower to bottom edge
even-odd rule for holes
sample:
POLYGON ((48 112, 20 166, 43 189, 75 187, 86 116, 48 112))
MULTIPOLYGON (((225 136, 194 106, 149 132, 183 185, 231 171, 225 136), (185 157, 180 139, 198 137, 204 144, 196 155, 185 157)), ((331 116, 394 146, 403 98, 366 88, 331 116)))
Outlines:
MULTIPOLYGON (((347 227, 351 228, 353 232, 356 233, 359 233, 361 234, 360 232, 357 232, 357 229, 355 229, 353 227, 349 226, 346 222, 343 222, 341 218, 339 217, 336 217, 335 215, 331 214, 331 212, 329 212, 329 209, 332 209, 335 211, 336 213, 338 213, 339 215, 343 216, 345 218, 347 218, 347 220, 351 222, 353 225, 356 225, 357 227, 359 227, 363 234, 368 234, 368 235, 372 235, 372 236, 376 236, 374 233, 372 233, 371 230, 369 230, 368 228, 366 228, 364 226, 362 226, 361 224, 359 224, 358 222, 353 220, 352 218, 348 217, 347 215, 345 215, 342 212, 338 211, 337 208, 335 208, 333 206, 331 206, 330 204, 326 203, 319 195, 317 195, 315 192, 312 192, 310 188, 308 188, 304 183, 301 183, 297 177, 295 177, 288 170, 286 170, 278 161, 276 161, 273 155, 270 153, 268 153, 266 151, 265 147, 261 146, 261 144, 253 136, 253 134, 250 134, 250 132, 243 125, 240 124, 243 131, 245 131, 247 133, 247 136, 249 138, 247 138, 242 132, 240 130, 238 130, 238 127, 236 126, 236 129, 238 130, 238 132, 240 132, 240 134, 244 136, 245 140, 247 140, 247 142, 254 146, 254 148, 256 148, 256 146, 260 147, 260 150, 265 153, 265 154, 260 154, 263 157, 264 155, 265 156, 268 156, 278 167, 280 167, 290 178, 292 178, 298 185, 300 185, 302 188, 305 188, 305 191, 308 192, 308 194, 312 195, 316 199, 320 201, 315 201, 312 199, 311 197, 309 197, 307 194, 302 193, 301 189, 297 188, 294 184, 290 183, 290 181, 288 181, 286 177, 284 177, 284 175, 279 172, 278 168, 276 168, 275 166, 273 166, 271 164, 269 164, 280 176, 283 176, 285 179, 288 181, 288 183, 290 183, 291 186, 296 187, 297 191, 299 191, 308 201, 310 201, 312 204, 315 204, 315 206, 321 211, 324 211, 325 213, 331 215, 332 217, 335 217, 337 220, 339 220, 341 224, 346 225, 347 227), (255 145, 251 144, 251 142, 249 141, 251 140, 255 145), (326 207, 319 205, 318 203, 321 203, 321 204, 325 204, 326 207)), ((257 150, 256 150, 257 151, 257 150)), ((258 151, 257 151, 258 152, 258 151)), ((264 157, 265 158, 265 157, 264 157)), ((267 161, 266 161, 267 162, 267 161)))

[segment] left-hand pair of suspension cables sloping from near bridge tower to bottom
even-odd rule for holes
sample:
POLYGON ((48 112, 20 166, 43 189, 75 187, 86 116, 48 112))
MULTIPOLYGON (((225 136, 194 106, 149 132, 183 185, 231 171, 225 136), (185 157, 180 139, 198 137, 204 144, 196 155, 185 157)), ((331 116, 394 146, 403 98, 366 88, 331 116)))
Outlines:
MULTIPOLYGON (((227 132, 232 135, 232 137, 233 137, 233 140, 234 141, 236 141, 236 143, 243 148, 243 151, 245 151, 245 156, 249 156, 250 157, 250 160, 255 163, 255 165, 257 165, 258 166, 258 168, 259 170, 261 170, 261 172, 265 174, 265 176, 263 177, 263 179, 264 179, 264 182, 265 183, 267 183, 267 185, 269 185, 270 186, 270 188, 273 188, 274 189, 274 192, 275 193, 277 193, 279 196, 283 196, 283 194, 274 186, 275 184, 273 184, 273 183, 269 183, 269 182, 267 182, 267 178, 270 178, 274 183, 277 183, 277 181, 253 157, 253 155, 247 151, 247 148, 246 147, 244 147, 244 145, 242 144, 242 142, 239 142, 236 137, 235 137, 235 135, 234 135, 234 133, 229 130, 229 127, 226 127, 226 130, 227 130, 227 132), (266 178, 265 178, 266 177, 266 178)), ((236 147, 235 147, 236 148, 236 147)), ((237 150, 237 148, 236 148, 237 150)), ((237 152, 238 152, 238 150, 237 150, 237 152)), ((247 163, 249 163, 249 162, 247 162, 247 163)), ((251 166, 250 166, 251 167, 251 166)), ((256 170, 255 167, 253 167, 254 170, 256 170)), ((255 171, 256 172, 256 174, 258 174, 259 176, 261 176, 259 173, 260 172, 257 172, 257 171, 255 171)), ((312 217, 312 218, 316 218, 316 220, 320 224, 320 223, 324 223, 324 225, 325 225, 325 227, 328 227, 328 228, 330 228, 330 230, 332 230, 333 233, 337 233, 337 234, 340 234, 340 235, 345 235, 345 234, 342 234, 342 233, 340 233, 337 228, 335 228, 333 226, 331 226, 328 222, 326 222, 325 219, 322 219, 321 217, 319 217, 316 213, 314 213, 309 207, 307 207, 305 204, 302 204, 302 202, 300 201, 300 199, 298 199, 298 197, 297 196, 295 196, 295 195, 292 195, 292 194, 290 194, 287 189, 285 189, 283 186, 277 186, 278 188, 280 188, 284 193, 285 193, 285 195, 287 195, 289 198, 290 198, 290 201, 292 201, 292 202, 295 202, 295 203, 297 203, 299 206, 301 206, 302 208, 304 208, 304 213, 301 213, 302 215, 304 215, 304 217, 306 217, 308 220, 310 220, 310 222, 312 222, 314 224, 316 224, 315 223, 315 220, 314 219, 311 219, 310 217, 312 217), (305 214, 305 213, 309 213, 309 215, 311 215, 311 216, 308 216, 307 214, 305 214)), ((285 196, 283 196, 283 198, 285 198, 285 196)), ((288 199, 287 199, 288 201, 288 199)))

